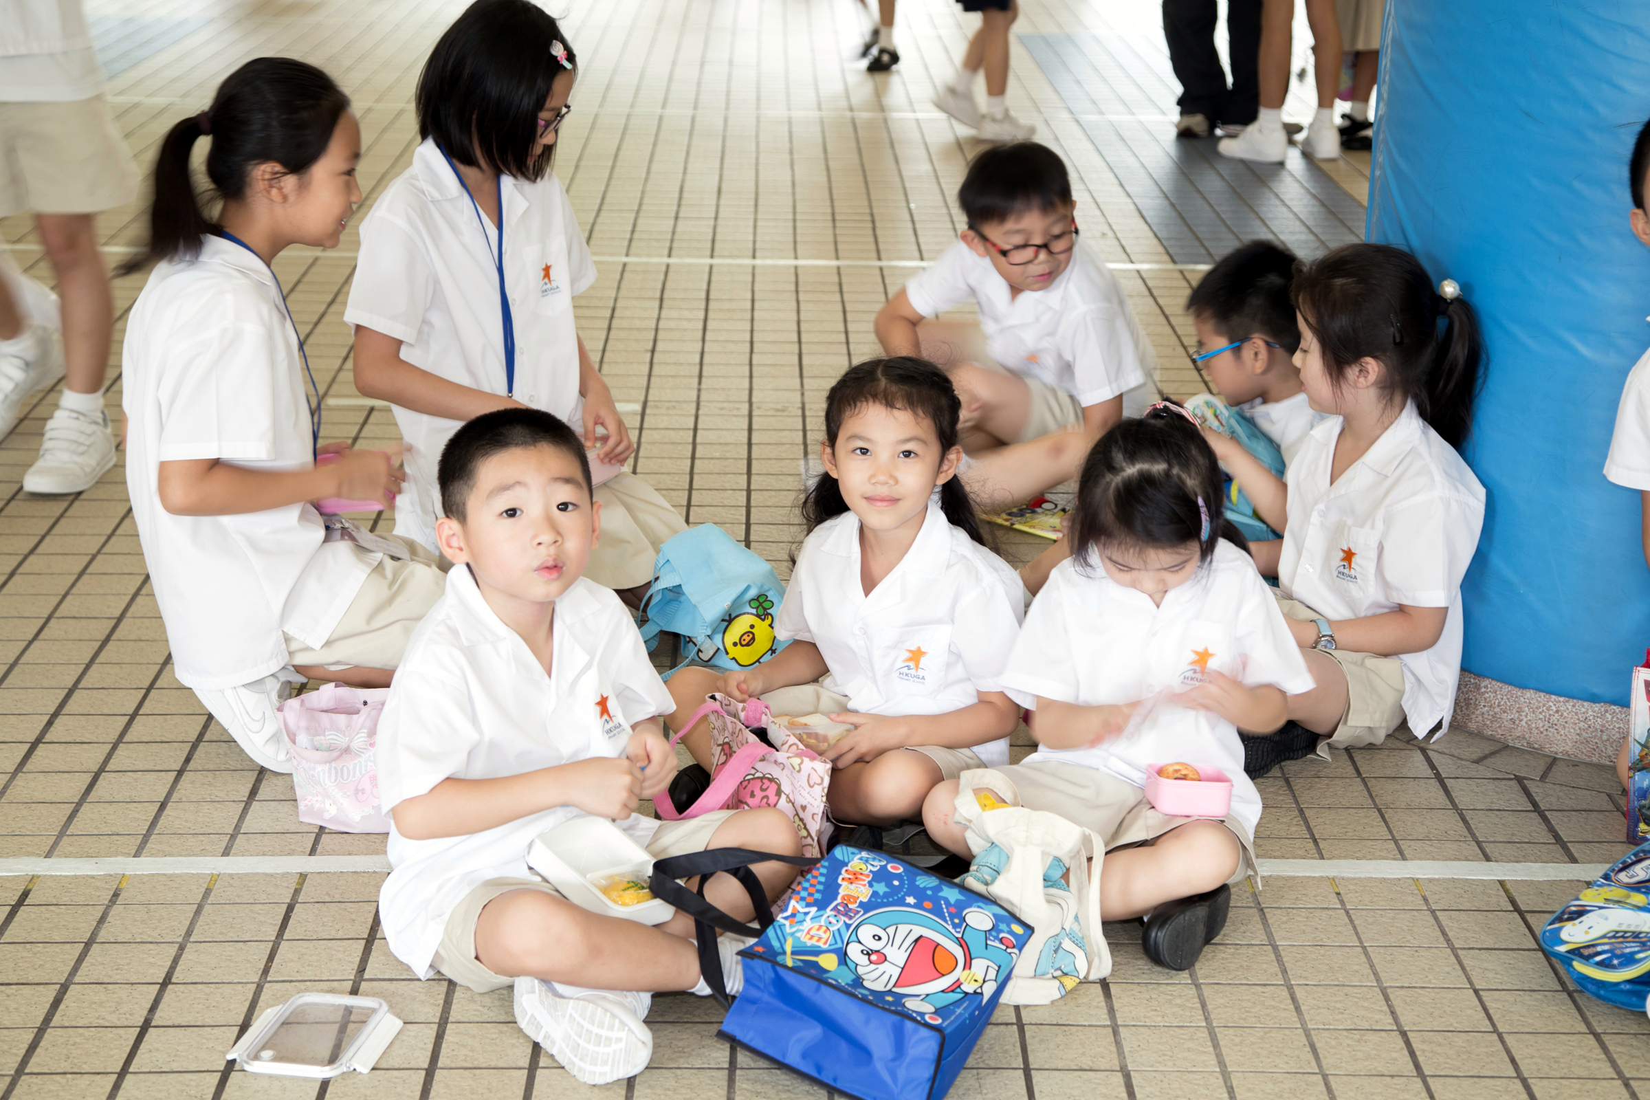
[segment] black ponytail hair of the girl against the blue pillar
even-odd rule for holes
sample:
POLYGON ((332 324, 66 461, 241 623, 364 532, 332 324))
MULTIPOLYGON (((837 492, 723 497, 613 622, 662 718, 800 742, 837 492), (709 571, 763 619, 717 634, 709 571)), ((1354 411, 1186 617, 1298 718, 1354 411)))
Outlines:
POLYGON ((1404 249, 1346 244, 1299 264, 1290 292, 1332 378, 1358 360, 1378 360, 1389 399, 1414 401, 1450 447, 1467 440, 1483 338, 1454 279, 1434 287, 1404 249))

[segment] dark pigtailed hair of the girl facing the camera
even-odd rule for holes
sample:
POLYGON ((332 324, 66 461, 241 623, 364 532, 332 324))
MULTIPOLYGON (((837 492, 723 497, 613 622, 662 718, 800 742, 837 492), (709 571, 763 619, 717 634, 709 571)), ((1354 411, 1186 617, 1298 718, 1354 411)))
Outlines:
MULTIPOLYGON (((825 396, 825 444, 837 445, 837 434, 842 422, 866 406, 883 406, 899 409, 934 425, 940 454, 949 454, 959 445, 957 422, 962 417, 962 401, 957 388, 950 384, 945 371, 927 360, 909 355, 894 355, 886 360, 866 360, 837 379, 825 396)), ((969 490, 962 487, 962 478, 952 477, 939 487, 939 506, 945 519, 978 543, 985 541, 980 529, 980 518, 969 500, 969 490)), ((812 534, 817 526, 848 511, 848 501, 842 496, 842 485, 827 470, 802 498, 802 518, 812 534)))

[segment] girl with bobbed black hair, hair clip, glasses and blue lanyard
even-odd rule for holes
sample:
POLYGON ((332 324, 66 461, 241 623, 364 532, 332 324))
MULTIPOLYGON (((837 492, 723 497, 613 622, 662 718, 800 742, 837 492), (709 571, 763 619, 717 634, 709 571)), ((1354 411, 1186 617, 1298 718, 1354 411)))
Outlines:
MULTIPOLYGON (((556 20, 528 0, 472 3, 419 76, 412 167, 361 223, 343 315, 355 388, 394 406, 411 444, 396 531, 431 549, 436 462, 470 417, 546 409, 581 424, 602 463, 635 450, 573 322, 596 267, 549 168, 574 66, 556 20)), ((587 576, 639 602, 660 543, 686 524, 634 473, 612 473, 596 500, 602 541, 587 576)))

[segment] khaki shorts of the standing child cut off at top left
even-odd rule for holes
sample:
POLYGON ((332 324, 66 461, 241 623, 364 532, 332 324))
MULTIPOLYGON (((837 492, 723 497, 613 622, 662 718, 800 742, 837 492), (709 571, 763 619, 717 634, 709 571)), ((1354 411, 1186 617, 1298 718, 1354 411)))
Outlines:
POLYGON ((137 198, 137 165, 102 96, 0 102, 0 218, 96 214, 137 198))

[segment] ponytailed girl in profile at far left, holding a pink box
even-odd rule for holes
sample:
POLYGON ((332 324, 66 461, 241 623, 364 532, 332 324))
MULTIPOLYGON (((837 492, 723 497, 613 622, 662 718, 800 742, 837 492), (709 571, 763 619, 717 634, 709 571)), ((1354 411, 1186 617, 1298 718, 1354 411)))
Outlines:
POLYGON ((401 488, 393 455, 317 445, 320 391, 271 267, 289 244, 337 247, 360 158, 330 76, 249 61, 167 132, 148 249, 130 266, 163 261, 132 307, 122 369, 125 480, 173 668, 276 772, 292 770, 276 714, 290 686, 388 686, 444 585, 434 554, 310 503, 401 488), (190 183, 203 135, 218 224, 190 183))

